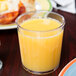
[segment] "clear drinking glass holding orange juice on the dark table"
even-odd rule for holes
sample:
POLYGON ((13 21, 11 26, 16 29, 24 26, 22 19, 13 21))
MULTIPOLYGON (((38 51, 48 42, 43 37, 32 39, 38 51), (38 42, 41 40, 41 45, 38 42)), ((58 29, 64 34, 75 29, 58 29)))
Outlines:
MULTIPOLYGON (((23 68, 30 73, 40 75, 55 71, 60 62, 64 17, 55 12, 33 11, 19 16, 16 23, 23 68), (22 26, 22 23, 29 21, 29 24, 32 24, 31 20, 36 19, 53 19, 58 21, 60 26, 47 31, 29 30, 22 26)), ((49 22, 45 20, 44 23, 49 22)))

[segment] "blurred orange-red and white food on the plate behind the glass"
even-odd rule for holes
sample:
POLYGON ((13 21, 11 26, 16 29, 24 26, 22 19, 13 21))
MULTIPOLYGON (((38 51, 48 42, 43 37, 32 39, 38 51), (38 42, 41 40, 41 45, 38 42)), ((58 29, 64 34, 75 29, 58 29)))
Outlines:
POLYGON ((0 0, 0 24, 10 24, 28 11, 35 10, 35 0, 0 0))

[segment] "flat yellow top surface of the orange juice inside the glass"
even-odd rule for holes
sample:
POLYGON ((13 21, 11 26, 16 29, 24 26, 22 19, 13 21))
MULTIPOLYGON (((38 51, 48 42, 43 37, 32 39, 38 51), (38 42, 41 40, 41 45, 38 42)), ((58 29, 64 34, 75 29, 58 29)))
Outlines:
POLYGON ((32 31, 48 31, 55 29, 61 25, 55 19, 30 19, 22 23, 21 27, 32 31))

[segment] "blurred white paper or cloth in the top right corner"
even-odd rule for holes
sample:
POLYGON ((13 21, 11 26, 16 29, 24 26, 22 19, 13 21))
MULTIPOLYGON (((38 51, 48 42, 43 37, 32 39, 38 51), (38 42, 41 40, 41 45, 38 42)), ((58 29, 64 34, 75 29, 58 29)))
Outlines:
POLYGON ((76 14, 76 0, 51 0, 51 3, 56 9, 76 14))

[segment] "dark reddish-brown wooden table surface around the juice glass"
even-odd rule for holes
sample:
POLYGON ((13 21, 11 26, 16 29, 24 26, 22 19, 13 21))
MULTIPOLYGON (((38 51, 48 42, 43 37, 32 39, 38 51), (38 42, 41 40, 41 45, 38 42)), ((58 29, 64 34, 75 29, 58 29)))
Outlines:
MULTIPOLYGON (((62 54, 59 68, 45 76, 58 76, 62 68, 76 57, 76 14, 54 11, 63 15, 66 20, 62 54)), ((22 68, 17 29, 1 30, 0 43, 0 59, 3 61, 0 76, 37 76, 22 68)))

